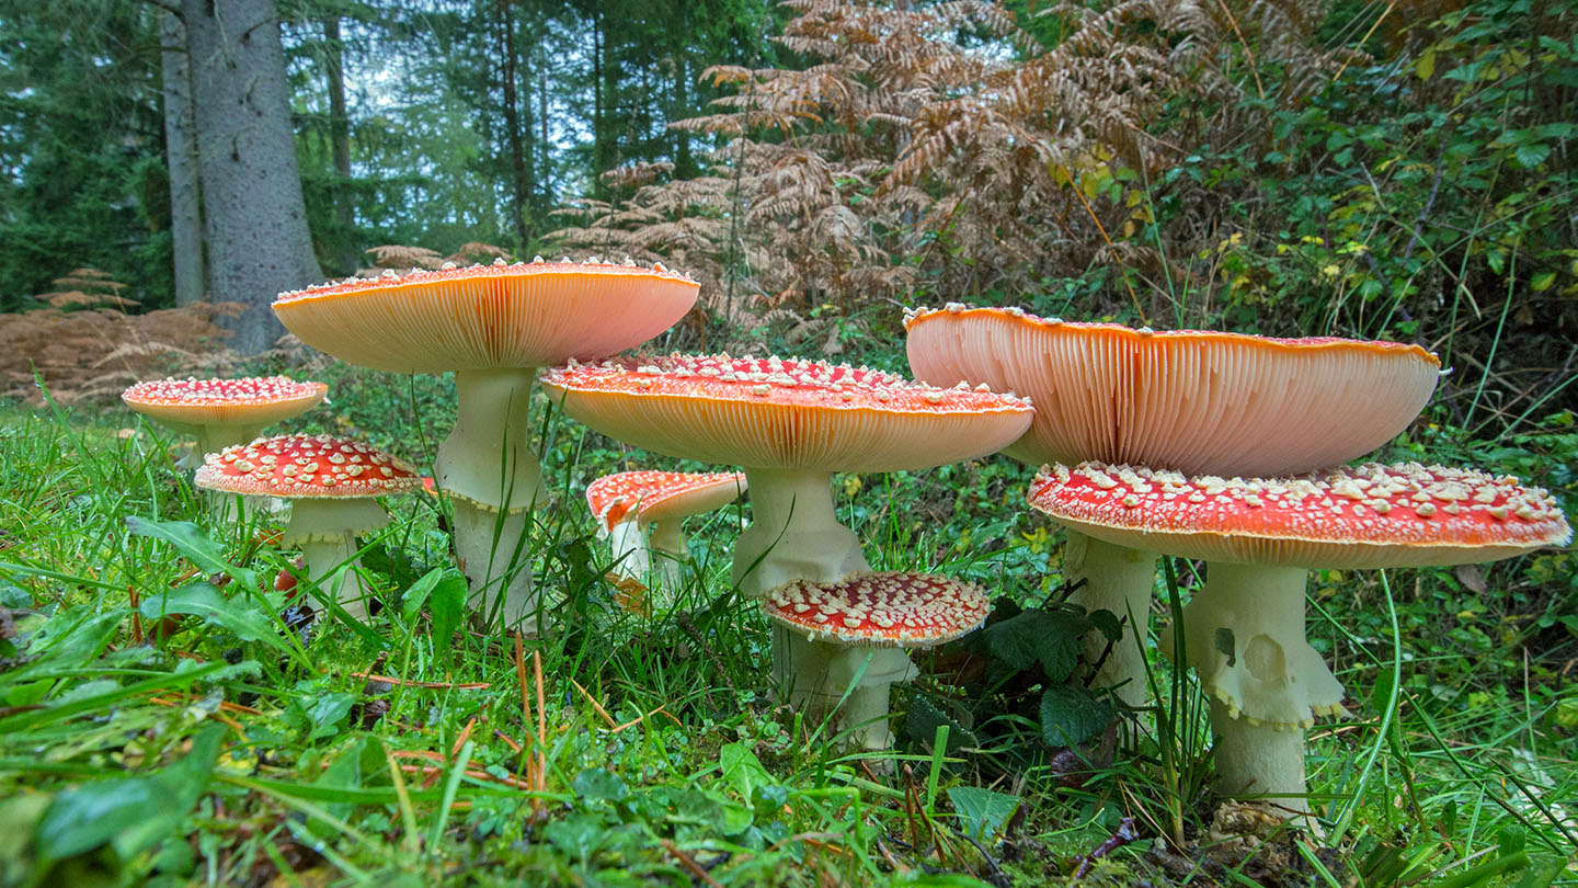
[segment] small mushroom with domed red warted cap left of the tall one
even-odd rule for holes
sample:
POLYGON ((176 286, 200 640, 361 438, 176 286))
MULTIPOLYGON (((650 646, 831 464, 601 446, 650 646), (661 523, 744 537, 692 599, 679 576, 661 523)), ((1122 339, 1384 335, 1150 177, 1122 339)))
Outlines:
POLYGON ((372 499, 421 487, 404 460, 328 435, 278 435, 210 453, 197 487, 292 499, 282 545, 300 544, 323 596, 366 621, 369 591, 357 574, 357 534, 388 523, 372 499))

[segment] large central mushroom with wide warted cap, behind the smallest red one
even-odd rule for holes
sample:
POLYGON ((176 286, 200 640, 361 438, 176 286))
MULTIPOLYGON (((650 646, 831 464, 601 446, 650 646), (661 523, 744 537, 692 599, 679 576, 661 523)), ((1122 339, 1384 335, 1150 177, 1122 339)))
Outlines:
MULTIPOLYGON (((734 547, 732 577, 751 597, 794 580, 827 583, 869 572, 860 539, 838 523, 832 472, 982 457, 1019 438, 1034 412, 1013 395, 778 357, 570 363, 544 371, 543 387, 596 431, 745 469, 753 517, 734 547)), ((792 683, 798 664, 822 659, 805 638, 776 632, 780 684, 792 683)))

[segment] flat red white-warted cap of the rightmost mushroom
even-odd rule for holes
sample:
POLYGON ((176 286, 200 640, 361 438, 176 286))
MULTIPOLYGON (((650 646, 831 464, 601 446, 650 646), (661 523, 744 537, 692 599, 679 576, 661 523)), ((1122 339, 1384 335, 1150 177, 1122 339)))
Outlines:
POLYGON ((1471 564, 1572 539, 1542 488, 1419 463, 1250 480, 1100 463, 1049 466, 1030 484, 1029 501, 1116 545, 1284 567, 1471 564))

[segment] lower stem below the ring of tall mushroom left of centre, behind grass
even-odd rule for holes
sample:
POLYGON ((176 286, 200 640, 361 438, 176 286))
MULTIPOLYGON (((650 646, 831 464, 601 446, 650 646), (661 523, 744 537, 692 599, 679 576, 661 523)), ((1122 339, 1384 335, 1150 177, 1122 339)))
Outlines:
POLYGON ((537 638, 548 627, 541 597, 532 585, 527 510, 499 512, 456 496, 454 555, 470 588, 470 608, 505 629, 537 638), (502 599, 502 600, 500 600, 502 599))

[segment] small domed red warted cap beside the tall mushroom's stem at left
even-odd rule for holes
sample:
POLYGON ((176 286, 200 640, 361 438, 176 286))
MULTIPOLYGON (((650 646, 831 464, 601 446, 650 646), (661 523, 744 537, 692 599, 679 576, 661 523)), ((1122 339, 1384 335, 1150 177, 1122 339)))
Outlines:
POLYGON ((358 441, 328 435, 276 435, 208 453, 197 487, 286 498, 350 498, 421 487, 417 469, 358 441))

